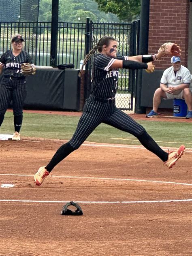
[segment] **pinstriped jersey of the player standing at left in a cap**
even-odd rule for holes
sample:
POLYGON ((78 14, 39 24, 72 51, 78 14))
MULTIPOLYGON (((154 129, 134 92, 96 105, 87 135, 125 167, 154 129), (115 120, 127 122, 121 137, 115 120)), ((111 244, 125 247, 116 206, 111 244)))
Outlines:
POLYGON ((13 51, 9 50, 3 53, 0 57, 0 65, 4 66, 4 75, 11 77, 21 77, 23 76, 21 71, 22 63, 32 64, 32 59, 26 51, 21 51, 19 55, 13 55, 13 51))

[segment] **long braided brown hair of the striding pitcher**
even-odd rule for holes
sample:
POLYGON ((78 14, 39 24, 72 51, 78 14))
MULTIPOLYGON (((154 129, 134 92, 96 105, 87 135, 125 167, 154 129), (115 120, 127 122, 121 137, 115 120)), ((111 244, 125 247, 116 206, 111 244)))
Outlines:
POLYGON ((94 53, 98 50, 98 52, 102 52, 102 47, 103 45, 108 46, 110 41, 116 41, 115 38, 113 38, 112 36, 103 36, 98 43, 93 47, 92 50, 90 50, 90 52, 85 56, 85 59, 83 60, 83 65, 81 67, 81 70, 79 72, 79 77, 81 77, 81 73, 83 70, 83 67, 87 64, 87 62, 90 60, 90 58, 92 57, 92 55, 94 55, 94 53))

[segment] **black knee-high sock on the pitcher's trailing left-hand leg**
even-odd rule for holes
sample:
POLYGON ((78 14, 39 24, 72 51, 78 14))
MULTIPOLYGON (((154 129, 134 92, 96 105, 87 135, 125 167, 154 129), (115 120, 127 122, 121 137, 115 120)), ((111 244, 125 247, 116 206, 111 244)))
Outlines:
POLYGON ((49 164, 45 166, 45 169, 50 173, 55 165, 57 165, 59 162, 61 162, 66 156, 68 156, 70 153, 72 153, 75 150, 74 147, 71 147, 69 143, 65 143, 62 145, 55 153, 49 164))

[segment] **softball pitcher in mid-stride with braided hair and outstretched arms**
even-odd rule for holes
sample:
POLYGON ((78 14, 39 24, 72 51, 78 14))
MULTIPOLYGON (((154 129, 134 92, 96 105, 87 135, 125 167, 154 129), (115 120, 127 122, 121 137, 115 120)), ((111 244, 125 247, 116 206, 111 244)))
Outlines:
POLYGON ((38 186, 42 184, 54 166, 75 149, 78 149, 100 123, 109 124, 119 130, 134 135, 146 149, 156 154, 169 168, 175 164, 185 150, 185 146, 182 145, 177 151, 169 154, 166 153, 147 134, 140 124, 115 106, 118 68, 145 68, 147 71, 152 72, 154 65, 151 61, 162 57, 164 54, 157 53, 156 55, 138 55, 132 57, 117 56, 117 41, 112 37, 104 37, 86 55, 84 65, 96 50, 100 54, 96 55, 93 61, 91 94, 85 103, 77 129, 72 139, 56 151, 49 164, 38 169, 34 175, 34 181, 38 186))

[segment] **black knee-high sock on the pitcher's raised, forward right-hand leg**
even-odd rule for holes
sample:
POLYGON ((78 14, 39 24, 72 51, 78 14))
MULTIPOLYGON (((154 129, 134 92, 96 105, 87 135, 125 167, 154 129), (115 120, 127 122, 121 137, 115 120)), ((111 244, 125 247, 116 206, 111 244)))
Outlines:
POLYGON ((152 153, 156 154, 163 162, 167 161, 168 159, 168 153, 166 153, 164 150, 162 150, 159 145, 154 141, 154 139, 149 136, 149 134, 145 131, 143 134, 139 135, 137 137, 141 144, 151 151, 152 153))

